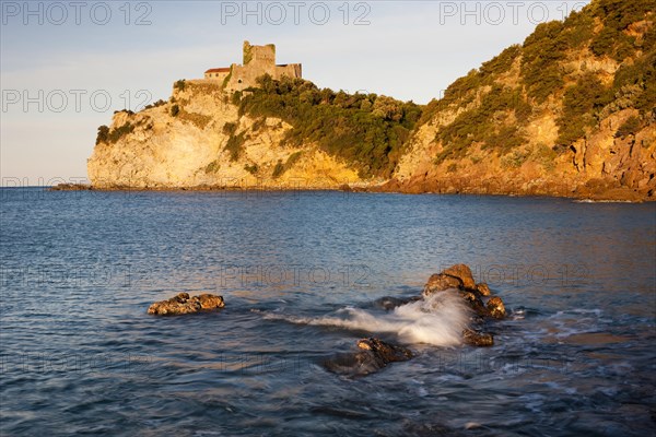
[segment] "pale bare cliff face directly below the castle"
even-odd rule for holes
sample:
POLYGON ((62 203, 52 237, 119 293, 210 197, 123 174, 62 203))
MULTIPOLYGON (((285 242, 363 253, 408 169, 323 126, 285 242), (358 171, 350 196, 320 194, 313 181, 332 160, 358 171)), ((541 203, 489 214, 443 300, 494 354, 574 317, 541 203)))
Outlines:
POLYGON ((210 81, 178 82, 154 107, 114 115, 87 162, 95 188, 337 188, 354 169, 315 144, 283 145, 279 118, 239 115, 210 81))

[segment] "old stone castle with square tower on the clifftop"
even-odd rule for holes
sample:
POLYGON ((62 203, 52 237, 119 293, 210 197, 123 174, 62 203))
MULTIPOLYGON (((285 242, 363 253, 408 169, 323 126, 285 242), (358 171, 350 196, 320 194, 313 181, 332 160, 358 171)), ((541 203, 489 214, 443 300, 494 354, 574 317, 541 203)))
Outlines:
POLYGON ((257 86, 256 79, 262 74, 269 74, 277 80, 283 75, 301 78, 301 64, 276 64, 276 45, 251 46, 245 40, 242 66, 233 63, 231 67, 209 69, 204 72, 204 79, 220 81, 225 84, 226 90, 242 91, 257 86))

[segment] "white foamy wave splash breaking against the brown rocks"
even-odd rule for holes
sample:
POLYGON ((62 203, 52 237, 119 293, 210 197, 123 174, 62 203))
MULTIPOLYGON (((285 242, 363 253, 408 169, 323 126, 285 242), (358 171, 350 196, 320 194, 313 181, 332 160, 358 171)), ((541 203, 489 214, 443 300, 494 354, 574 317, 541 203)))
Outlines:
POLYGON ((386 314, 347 307, 336 311, 335 316, 295 317, 269 312, 263 317, 291 323, 394 333, 406 343, 450 346, 461 342, 469 311, 457 292, 447 291, 401 305, 386 314))

